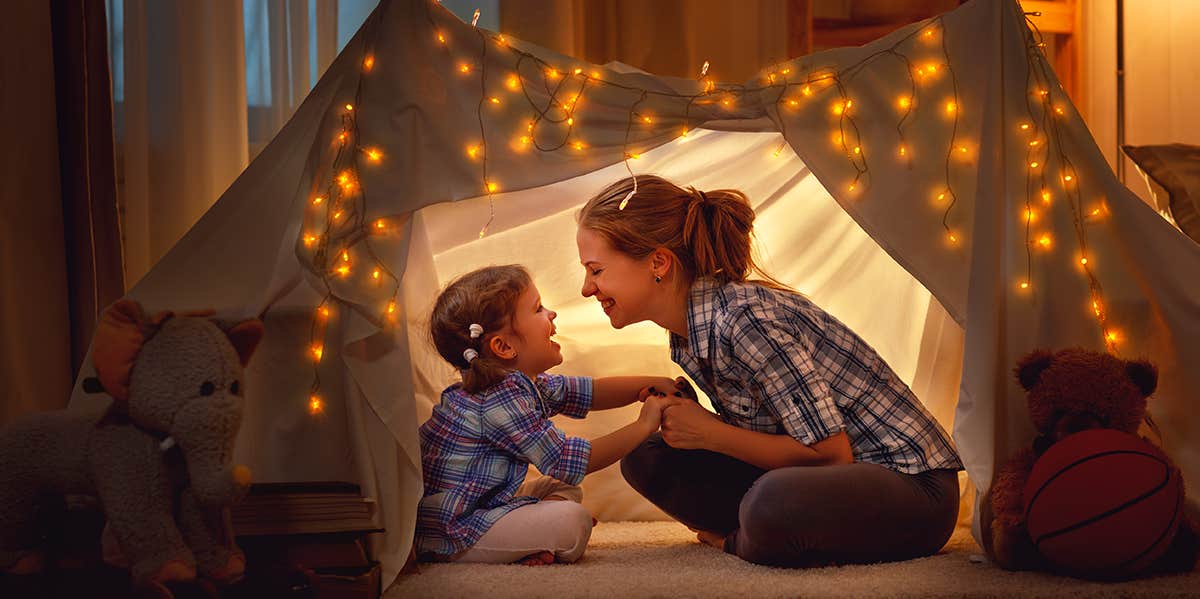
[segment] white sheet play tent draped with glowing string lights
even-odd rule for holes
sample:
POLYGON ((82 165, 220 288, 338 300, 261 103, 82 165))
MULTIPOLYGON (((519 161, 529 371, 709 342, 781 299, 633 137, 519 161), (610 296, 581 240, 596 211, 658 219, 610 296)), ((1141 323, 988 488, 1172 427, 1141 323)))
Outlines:
MULTIPOLYGON (((578 294, 575 211, 630 170, 745 191, 768 270, 953 424, 980 491, 1032 437, 1013 364, 1069 346, 1158 365, 1151 409, 1195 484, 1200 248, 1116 180, 1036 43, 1016 2, 974 0, 726 85, 582 64, 436 2, 384 0, 130 296, 265 321, 238 459, 259 481, 360 483, 388 529, 389 582, 421 496, 416 426, 454 377, 425 339, 446 281, 523 263, 559 312, 562 372, 678 373, 661 330, 614 331, 578 294), (323 301, 334 313, 313 337, 323 301)), ((72 403, 102 402, 77 385, 72 403)), ((631 418, 562 425, 596 436, 631 418)), ((586 490, 601 519, 660 515, 617 468, 586 490)))

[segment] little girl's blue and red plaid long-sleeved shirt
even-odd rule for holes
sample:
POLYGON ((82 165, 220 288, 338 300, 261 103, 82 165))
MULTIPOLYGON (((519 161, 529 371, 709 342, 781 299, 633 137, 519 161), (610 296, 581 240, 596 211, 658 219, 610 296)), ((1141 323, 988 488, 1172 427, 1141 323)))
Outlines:
POLYGON ((512 372, 479 395, 455 384, 421 425, 425 496, 416 508, 416 551, 451 556, 469 549, 500 516, 534 497, 514 497, 528 465, 578 485, 592 443, 568 437, 548 419, 583 418, 592 379, 512 372))

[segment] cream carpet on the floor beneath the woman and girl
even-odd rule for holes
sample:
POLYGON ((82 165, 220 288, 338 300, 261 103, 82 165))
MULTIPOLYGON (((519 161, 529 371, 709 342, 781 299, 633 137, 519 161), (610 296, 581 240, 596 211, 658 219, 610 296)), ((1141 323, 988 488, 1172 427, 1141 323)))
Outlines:
POLYGON ((755 565, 701 545, 677 522, 601 522, 575 564, 425 564, 384 597, 1200 597, 1200 573, 1098 583, 1004 571, 972 561, 980 553, 970 531, 959 528, 932 557, 791 570, 755 565))

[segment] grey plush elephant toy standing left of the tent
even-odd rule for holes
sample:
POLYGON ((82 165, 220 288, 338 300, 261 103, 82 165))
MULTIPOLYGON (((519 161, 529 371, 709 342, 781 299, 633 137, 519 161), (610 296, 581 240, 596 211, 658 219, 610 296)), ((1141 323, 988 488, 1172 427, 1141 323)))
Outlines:
POLYGON ((138 587, 242 576, 229 505, 250 471, 233 466, 233 445, 242 367, 263 324, 209 316, 146 317, 136 301, 118 301, 92 342, 97 376, 84 381, 113 397, 109 409, 35 414, 0 433, 0 571, 43 568, 38 501, 70 493, 100 498, 138 587))

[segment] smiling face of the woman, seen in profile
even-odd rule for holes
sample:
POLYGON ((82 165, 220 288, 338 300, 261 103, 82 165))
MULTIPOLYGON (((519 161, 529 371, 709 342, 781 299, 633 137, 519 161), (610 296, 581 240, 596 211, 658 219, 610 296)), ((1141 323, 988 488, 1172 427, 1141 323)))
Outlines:
POLYGON ((602 235, 580 227, 575 235, 583 264, 584 298, 595 298, 614 329, 649 319, 647 306, 659 290, 652 259, 617 251, 602 235))

